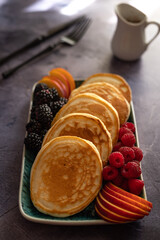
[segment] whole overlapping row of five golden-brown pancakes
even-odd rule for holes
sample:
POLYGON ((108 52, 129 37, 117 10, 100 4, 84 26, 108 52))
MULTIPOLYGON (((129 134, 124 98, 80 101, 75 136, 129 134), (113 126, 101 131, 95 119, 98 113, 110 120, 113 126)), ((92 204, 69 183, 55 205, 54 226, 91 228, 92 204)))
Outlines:
POLYGON ((67 217, 94 200, 131 97, 127 82, 108 73, 92 75, 72 91, 32 166, 31 200, 39 211, 67 217))

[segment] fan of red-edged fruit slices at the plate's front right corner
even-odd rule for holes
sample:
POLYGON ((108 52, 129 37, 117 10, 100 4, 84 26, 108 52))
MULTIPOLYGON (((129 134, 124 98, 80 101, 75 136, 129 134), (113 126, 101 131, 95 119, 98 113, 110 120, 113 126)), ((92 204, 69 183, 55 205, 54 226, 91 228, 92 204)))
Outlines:
MULTIPOLYGON (((108 182, 99 192, 95 209, 101 218, 109 222, 127 223, 141 219, 149 214, 151 208, 147 205, 147 200, 142 199, 144 203, 142 204, 140 197, 135 195, 136 200, 132 199, 134 194, 123 189, 120 189, 122 190, 120 194, 119 189, 119 187, 108 182)), ((152 203, 149 202, 149 205, 152 206, 152 203)))

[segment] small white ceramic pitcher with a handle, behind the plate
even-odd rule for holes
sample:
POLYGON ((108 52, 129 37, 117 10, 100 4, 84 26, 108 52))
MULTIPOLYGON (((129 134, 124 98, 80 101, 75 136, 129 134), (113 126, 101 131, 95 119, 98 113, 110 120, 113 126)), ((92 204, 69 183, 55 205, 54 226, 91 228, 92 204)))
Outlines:
POLYGON ((118 23, 111 43, 113 54, 122 60, 136 60, 158 36, 160 24, 154 21, 147 22, 144 13, 126 3, 118 4, 115 13, 118 23), (156 25, 158 29, 152 39, 146 43, 145 28, 149 24, 156 25))

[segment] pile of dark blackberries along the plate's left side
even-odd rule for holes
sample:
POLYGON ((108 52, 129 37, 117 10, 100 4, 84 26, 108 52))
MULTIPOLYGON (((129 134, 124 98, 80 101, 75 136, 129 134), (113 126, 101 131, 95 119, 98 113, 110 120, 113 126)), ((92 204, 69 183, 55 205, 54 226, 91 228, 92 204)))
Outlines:
POLYGON ((31 117, 26 125, 27 135, 24 139, 27 149, 38 153, 54 116, 66 103, 67 99, 60 97, 55 88, 49 88, 44 83, 36 85, 33 93, 31 117))

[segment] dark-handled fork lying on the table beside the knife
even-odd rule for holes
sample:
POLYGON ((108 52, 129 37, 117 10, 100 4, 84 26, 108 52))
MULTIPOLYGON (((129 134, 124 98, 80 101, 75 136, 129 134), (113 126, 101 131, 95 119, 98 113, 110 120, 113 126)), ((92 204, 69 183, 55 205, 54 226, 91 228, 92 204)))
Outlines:
POLYGON ((54 50, 58 46, 63 46, 63 45, 74 46, 83 37, 83 35, 86 32, 87 28, 89 27, 90 23, 91 23, 90 18, 85 17, 85 16, 82 17, 79 21, 77 21, 74 28, 68 35, 62 36, 58 42, 54 43, 53 45, 49 45, 44 50, 40 51, 39 53, 35 54, 34 56, 32 56, 31 58, 22 62, 21 64, 15 66, 14 68, 4 71, 2 73, 2 77, 7 78, 7 77, 11 76, 14 72, 16 72, 18 69, 23 67, 25 64, 31 62, 32 60, 40 57, 41 55, 43 55, 45 53, 48 53, 48 52, 54 50))

